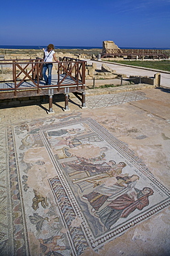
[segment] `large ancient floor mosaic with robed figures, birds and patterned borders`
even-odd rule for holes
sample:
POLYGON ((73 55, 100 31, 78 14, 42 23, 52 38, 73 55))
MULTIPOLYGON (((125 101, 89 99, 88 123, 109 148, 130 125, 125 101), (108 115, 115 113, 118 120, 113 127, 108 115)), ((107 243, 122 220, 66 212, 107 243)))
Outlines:
POLYGON ((169 204, 141 159, 91 118, 0 128, 1 255, 98 253, 169 204))

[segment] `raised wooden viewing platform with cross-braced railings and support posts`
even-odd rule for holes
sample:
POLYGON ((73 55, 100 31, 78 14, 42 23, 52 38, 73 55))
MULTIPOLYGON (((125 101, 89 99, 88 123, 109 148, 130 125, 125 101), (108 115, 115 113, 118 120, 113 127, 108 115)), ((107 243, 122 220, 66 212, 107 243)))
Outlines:
POLYGON ((42 68, 43 59, 1 60, 1 73, 7 78, 0 81, 0 100, 49 95, 49 113, 52 111, 52 96, 65 95, 65 109, 68 110, 69 93, 74 93, 85 107, 85 64, 83 60, 63 57, 54 64, 52 84, 45 85, 42 68))

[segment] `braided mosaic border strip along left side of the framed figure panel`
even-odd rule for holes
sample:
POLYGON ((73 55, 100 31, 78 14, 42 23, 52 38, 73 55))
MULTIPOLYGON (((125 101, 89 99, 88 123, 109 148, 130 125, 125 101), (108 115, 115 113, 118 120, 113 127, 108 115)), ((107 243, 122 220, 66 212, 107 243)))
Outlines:
MULTIPOLYGON (((75 255, 81 255, 81 253, 83 253, 85 248, 87 248, 88 242, 84 235, 83 226, 81 226, 80 228, 79 227, 72 228, 71 222, 76 217, 80 217, 81 219, 83 219, 83 222, 86 222, 85 218, 83 217, 80 207, 76 203, 74 194, 72 194, 72 192, 70 191, 70 186, 68 185, 65 177, 63 176, 63 172, 60 170, 60 167, 56 161, 56 158, 54 158, 51 152, 51 149, 47 144, 47 141, 45 140, 44 134, 41 132, 40 135, 47 149, 47 152, 50 155, 50 158, 56 169, 56 172, 58 174, 54 178, 49 179, 49 183, 54 193, 56 203, 59 206, 63 223, 65 224, 67 229, 70 231, 67 234, 68 239, 70 240, 70 244, 72 244, 73 253, 75 253, 75 255), (57 188, 57 185, 58 185, 58 188, 57 188), (65 199, 64 203, 63 201, 61 201, 61 198, 65 199)), ((86 229, 88 229, 87 223, 85 227, 86 229)), ((90 232, 90 230, 88 230, 88 232, 90 232)))

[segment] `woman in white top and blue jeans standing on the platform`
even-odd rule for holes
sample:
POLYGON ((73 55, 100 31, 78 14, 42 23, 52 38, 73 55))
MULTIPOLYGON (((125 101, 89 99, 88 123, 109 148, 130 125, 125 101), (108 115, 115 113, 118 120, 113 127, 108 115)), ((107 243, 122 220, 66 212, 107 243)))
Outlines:
POLYGON ((54 52, 54 44, 49 44, 47 46, 47 49, 44 50, 43 53, 43 62, 46 62, 43 64, 43 78, 45 80, 45 84, 51 84, 52 82, 52 59, 57 62, 56 55, 54 52), (47 71, 47 75, 46 75, 47 71))

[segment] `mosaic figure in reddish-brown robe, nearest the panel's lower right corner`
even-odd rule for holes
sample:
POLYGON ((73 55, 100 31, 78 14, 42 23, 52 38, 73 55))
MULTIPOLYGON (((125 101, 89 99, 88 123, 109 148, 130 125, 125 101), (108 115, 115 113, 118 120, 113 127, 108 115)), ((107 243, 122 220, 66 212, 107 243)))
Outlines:
POLYGON ((119 218, 126 218, 134 210, 142 210, 149 205, 149 196, 152 194, 151 188, 145 187, 142 190, 135 188, 131 194, 123 194, 111 201, 105 208, 96 212, 96 216, 109 229, 119 218))

